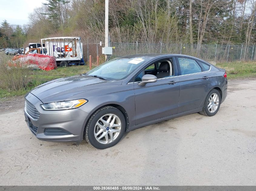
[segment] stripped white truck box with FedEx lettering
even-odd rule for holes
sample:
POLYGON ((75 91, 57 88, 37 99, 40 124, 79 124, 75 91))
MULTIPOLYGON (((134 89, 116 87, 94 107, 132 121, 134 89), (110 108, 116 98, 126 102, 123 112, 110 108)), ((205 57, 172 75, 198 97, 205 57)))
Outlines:
POLYGON ((53 37, 41 39, 43 54, 54 56, 59 66, 84 65, 81 37, 53 37))

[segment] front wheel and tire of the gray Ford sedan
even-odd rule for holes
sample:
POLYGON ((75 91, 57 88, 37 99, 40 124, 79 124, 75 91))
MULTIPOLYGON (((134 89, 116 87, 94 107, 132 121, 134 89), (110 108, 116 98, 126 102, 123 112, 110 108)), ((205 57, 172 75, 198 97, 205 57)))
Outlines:
POLYGON ((125 126, 125 117, 120 110, 111 106, 102 107, 88 120, 84 131, 85 140, 98 149, 112 147, 121 140, 125 126), (109 122, 108 119, 110 119, 109 122), (97 133, 99 134, 96 135, 97 133))

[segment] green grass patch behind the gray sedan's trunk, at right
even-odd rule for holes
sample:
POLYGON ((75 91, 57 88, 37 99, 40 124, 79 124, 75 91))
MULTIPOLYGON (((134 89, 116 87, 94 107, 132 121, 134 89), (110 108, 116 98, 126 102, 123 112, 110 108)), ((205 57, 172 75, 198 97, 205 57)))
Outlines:
POLYGON ((223 62, 216 63, 216 66, 226 69, 228 79, 256 76, 256 62, 223 62))

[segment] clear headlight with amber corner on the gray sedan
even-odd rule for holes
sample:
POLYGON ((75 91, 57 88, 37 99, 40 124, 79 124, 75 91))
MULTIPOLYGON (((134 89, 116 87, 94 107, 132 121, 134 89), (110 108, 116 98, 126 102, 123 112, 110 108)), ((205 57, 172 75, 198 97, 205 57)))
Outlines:
POLYGON ((58 102, 42 104, 41 107, 44 110, 69 110, 69 109, 78 108, 84 105, 86 102, 88 101, 85 99, 58 101, 58 102))

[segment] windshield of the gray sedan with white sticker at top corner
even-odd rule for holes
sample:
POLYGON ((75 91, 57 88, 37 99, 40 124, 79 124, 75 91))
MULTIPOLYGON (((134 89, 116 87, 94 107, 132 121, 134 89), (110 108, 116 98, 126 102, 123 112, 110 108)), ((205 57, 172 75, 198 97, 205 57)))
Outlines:
POLYGON ((130 75, 144 62, 144 58, 113 59, 92 69, 86 75, 105 78, 107 80, 121 80, 130 75))

